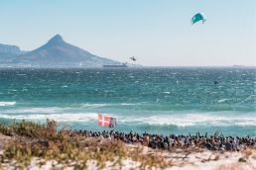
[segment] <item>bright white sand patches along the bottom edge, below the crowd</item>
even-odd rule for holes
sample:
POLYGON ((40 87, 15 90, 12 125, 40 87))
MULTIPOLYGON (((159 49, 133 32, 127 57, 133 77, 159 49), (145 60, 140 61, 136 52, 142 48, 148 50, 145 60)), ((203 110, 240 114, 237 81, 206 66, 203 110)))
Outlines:
MULTIPOLYGON (((150 150, 149 150, 150 152, 150 150)), ((185 152, 165 152, 164 154, 161 153, 163 159, 170 159, 173 161, 174 166, 168 167, 166 169, 170 170, 256 170, 256 152, 254 151, 253 154, 246 156, 242 152, 211 152, 211 151, 203 151, 203 152, 192 152, 186 156, 185 152), (239 158, 244 158, 246 162, 239 162, 239 158)), ((64 166, 58 164, 57 161, 46 161, 43 166, 40 166, 39 162, 42 161, 39 158, 34 158, 31 161, 31 165, 28 169, 31 170, 48 170, 51 168, 55 169, 63 169, 64 166)), ((2 164, 4 169, 15 169, 14 163, 6 163, 2 164)), ((72 163, 73 165, 75 162, 72 163)), ((97 162, 95 160, 87 161, 87 169, 90 170, 97 170, 97 162)), ((140 169, 140 162, 133 161, 132 159, 123 159, 121 169, 128 170, 128 169, 140 169)), ((65 170, 74 169, 74 166, 69 165, 68 167, 64 168, 65 170)), ((120 166, 114 165, 114 162, 106 162, 105 168, 106 170, 112 169, 120 169, 120 166)), ((160 169, 160 168, 155 168, 160 169)))

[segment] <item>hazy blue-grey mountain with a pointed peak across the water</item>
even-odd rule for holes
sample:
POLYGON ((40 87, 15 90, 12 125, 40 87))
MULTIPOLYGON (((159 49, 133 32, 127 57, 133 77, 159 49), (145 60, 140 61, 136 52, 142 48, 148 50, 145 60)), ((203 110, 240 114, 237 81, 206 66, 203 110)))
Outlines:
POLYGON ((94 55, 64 42, 60 35, 56 35, 43 46, 15 55, 5 64, 15 67, 102 67, 106 64, 121 63, 94 55))

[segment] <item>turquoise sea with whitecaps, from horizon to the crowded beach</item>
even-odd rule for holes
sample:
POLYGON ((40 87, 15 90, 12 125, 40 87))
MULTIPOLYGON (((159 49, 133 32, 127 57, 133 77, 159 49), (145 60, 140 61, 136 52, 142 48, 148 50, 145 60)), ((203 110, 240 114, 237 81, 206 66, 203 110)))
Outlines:
POLYGON ((91 130, 256 135, 254 68, 0 69, 0 120, 91 130), (214 83, 217 81, 217 83, 214 83))

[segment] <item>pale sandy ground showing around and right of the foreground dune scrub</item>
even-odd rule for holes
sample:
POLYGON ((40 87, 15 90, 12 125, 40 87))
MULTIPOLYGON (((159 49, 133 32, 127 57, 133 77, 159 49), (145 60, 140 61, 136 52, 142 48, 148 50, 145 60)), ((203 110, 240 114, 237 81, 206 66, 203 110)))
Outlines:
MULTIPOLYGON (((1 141, 5 140, 6 136, 1 135, 1 141)), ((8 138, 8 137, 7 137, 8 138)), ((138 147, 130 146, 127 147, 138 147)), ((255 150, 247 150, 244 152, 212 152, 208 150, 174 150, 172 152, 153 150, 143 146, 144 154, 150 156, 152 154, 157 155, 161 159, 172 161, 171 166, 165 168, 151 167, 152 169, 170 169, 170 170, 254 170, 256 169, 256 152, 255 150)), ((4 150, 1 150, 3 154, 4 150)), ((3 169, 16 169, 17 162, 15 160, 6 161, 1 163, 3 169)), ((56 160, 44 160, 39 157, 35 157, 31 160, 27 169, 75 169, 77 162, 71 162, 69 165, 58 163, 56 160), (44 162, 44 164, 42 164, 44 162)), ((121 161, 121 165, 115 165, 114 162, 106 161, 105 167, 102 169, 141 169, 141 162, 134 161, 131 158, 124 158, 121 161)), ((86 169, 96 170, 101 169, 97 166, 96 160, 88 160, 86 163, 86 169)), ((146 169, 151 169, 150 167, 146 169)))

